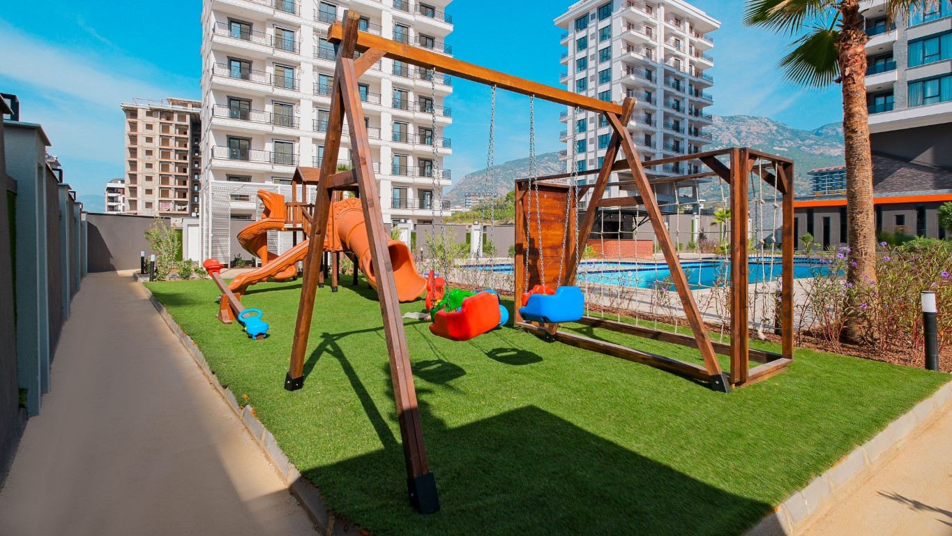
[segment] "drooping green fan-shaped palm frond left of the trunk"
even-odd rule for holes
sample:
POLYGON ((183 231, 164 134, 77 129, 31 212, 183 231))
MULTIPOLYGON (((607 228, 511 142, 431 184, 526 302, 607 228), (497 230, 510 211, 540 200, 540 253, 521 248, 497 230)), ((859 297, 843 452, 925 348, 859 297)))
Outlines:
POLYGON ((780 68, 790 80, 805 86, 823 87, 840 76, 836 42, 840 30, 814 28, 793 42, 793 50, 783 56, 780 68))

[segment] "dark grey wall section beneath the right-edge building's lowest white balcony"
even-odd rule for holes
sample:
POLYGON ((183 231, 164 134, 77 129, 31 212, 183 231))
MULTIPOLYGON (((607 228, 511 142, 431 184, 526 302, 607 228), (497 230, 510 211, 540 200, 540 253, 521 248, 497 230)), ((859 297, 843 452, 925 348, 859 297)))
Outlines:
POLYGON ((952 129, 948 124, 870 134, 873 151, 915 164, 952 169, 952 129))

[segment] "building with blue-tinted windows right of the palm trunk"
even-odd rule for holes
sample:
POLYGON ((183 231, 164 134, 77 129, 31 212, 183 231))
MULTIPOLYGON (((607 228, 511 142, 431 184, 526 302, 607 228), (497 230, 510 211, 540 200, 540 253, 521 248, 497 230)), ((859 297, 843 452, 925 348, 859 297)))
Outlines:
POLYGON ((924 2, 892 23, 886 4, 862 6, 873 152, 952 169, 952 0, 924 2))

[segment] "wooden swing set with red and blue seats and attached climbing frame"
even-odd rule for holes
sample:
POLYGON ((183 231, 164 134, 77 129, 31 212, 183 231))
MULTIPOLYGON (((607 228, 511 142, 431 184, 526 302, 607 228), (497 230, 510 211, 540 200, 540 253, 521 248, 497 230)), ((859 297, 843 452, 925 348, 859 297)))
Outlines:
MULTIPOLYGON (((605 151, 605 165, 591 172, 573 169, 570 173, 548 177, 532 177, 516 182, 516 267, 515 295, 521 299, 521 308, 514 312, 514 323, 526 331, 554 339, 575 347, 602 352, 631 361, 645 363, 652 367, 683 374, 707 382, 712 388, 729 391, 731 386, 739 387, 762 380, 783 370, 793 357, 792 333, 792 273, 793 273, 793 163, 773 155, 751 149, 724 149, 704 153, 690 154, 664 160, 645 163, 645 165, 663 165, 700 159, 710 171, 699 176, 714 174, 730 184, 731 208, 735 214, 747 213, 747 180, 752 172, 752 162, 764 159, 770 164, 761 168, 760 177, 783 194, 783 277, 782 277, 782 314, 780 319, 783 332, 782 354, 753 350, 747 347, 747 226, 732 226, 731 251, 731 344, 713 343, 708 337, 702 315, 695 303, 684 269, 680 264, 671 236, 664 226, 662 209, 659 208, 652 186, 663 178, 650 181, 645 174, 643 163, 628 131, 635 99, 628 97, 619 105, 605 102, 517 78, 499 71, 486 69, 466 63, 434 51, 412 47, 386 38, 358 30, 360 15, 347 11, 344 21, 335 22, 328 31, 327 40, 335 45, 337 51, 336 69, 333 86, 330 91, 331 105, 325 141, 325 153, 320 178, 317 184, 317 196, 313 213, 308 218, 310 226, 309 240, 312 244, 322 244, 327 233, 327 215, 335 192, 340 190, 356 191, 359 194, 362 209, 367 221, 367 241, 370 255, 376 267, 377 295, 379 298, 384 334, 387 340, 390 376, 393 383, 394 398, 400 424, 401 439, 407 468, 407 491, 409 500, 421 513, 439 509, 436 481, 430 471, 426 458, 423 430, 418 410, 416 390, 410 368, 407 338, 404 329, 400 302, 394 285, 393 267, 387 254, 387 236, 384 231, 383 216, 380 209, 380 195, 372 169, 372 157, 364 120, 361 93, 358 78, 375 65, 381 58, 418 66, 431 75, 436 71, 454 75, 473 82, 486 84, 495 89, 506 89, 529 96, 532 102, 541 98, 548 102, 562 104, 572 109, 582 109, 601 114, 612 129, 611 141, 605 151), (346 120, 346 124, 345 124, 346 120), (354 169, 337 171, 337 157, 341 148, 341 139, 349 134, 354 169), (619 154, 623 158, 616 161, 619 154), (718 157, 729 157, 724 164, 718 157), (615 199, 604 198, 609 186, 609 176, 613 171, 630 172, 633 179, 625 186, 638 190, 637 196, 615 199), (577 184, 581 175, 597 173, 592 184, 577 184), (585 195, 585 215, 578 221, 580 202, 585 195), (534 207, 533 207, 534 199, 534 207), (658 244, 664 253, 664 260, 671 272, 671 279, 681 298, 684 316, 693 332, 693 337, 671 332, 663 332, 629 325, 622 322, 585 316, 582 314, 584 296, 576 287, 576 276, 580 266, 580 248, 584 248, 587 237, 600 208, 644 206, 658 244), (529 231, 535 228, 535 233, 529 231), (572 229, 569 232, 569 229, 572 229), (557 272, 552 267, 558 266, 557 272), (548 269, 546 269, 548 268, 548 269), (672 358, 652 354, 636 348, 607 343, 574 333, 560 331, 562 322, 578 321, 598 328, 607 328, 634 335, 662 340, 678 345, 697 347, 704 359, 704 367, 684 363, 672 358), (730 355, 729 375, 724 373, 716 359, 717 353, 730 355), (764 365, 748 369, 748 360, 763 361, 764 365)), ((434 130, 435 135, 435 130, 434 130)), ((491 132, 490 132, 491 136, 491 132)), ((534 153, 534 121, 532 122, 531 149, 534 153)), ((435 140, 434 140, 435 144, 435 140)), ((490 160, 492 147, 490 144, 490 160)), ((534 156, 534 154, 533 154, 534 156)), ((491 163, 491 162, 490 162, 491 163)), ((491 166, 489 167, 491 169, 491 166)), ((679 180, 693 178, 681 177, 679 180)), ((672 180, 673 181, 673 180, 672 180)), ((614 186, 618 186, 617 184, 614 186)), ((439 189, 434 189, 439 191, 439 189)), ((442 208, 442 207, 441 207, 442 208)), ((737 217, 737 216, 735 216, 737 217)), ((285 378, 285 388, 300 389, 304 386, 304 365, 307 355, 307 339, 313 319, 316 288, 321 269, 321 248, 310 248, 304 264, 301 298, 298 307, 297 322, 291 349, 290 366, 285 378)), ((444 268, 446 270, 446 267, 444 268)), ((431 274, 430 284, 436 286, 436 278, 431 274)), ((445 287, 446 282, 443 282, 445 287)), ((447 291, 446 296, 452 291, 447 291)), ((459 302, 459 310, 454 304, 434 315, 433 332, 447 338, 465 340, 471 332, 453 330, 453 315, 462 318, 468 315, 484 313, 490 322, 486 326, 498 324, 501 320, 492 311, 499 311, 498 297, 492 292, 483 291, 464 296, 459 302), (489 307, 490 305, 496 308, 489 307), (442 316, 441 316, 442 315, 442 316), (441 320, 442 318, 442 320, 441 320), (454 336, 455 335, 455 336, 454 336)), ((435 300, 431 301, 431 304, 435 300)), ((431 307, 427 304, 427 307, 431 307)), ((498 312, 496 314, 499 314, 498 312)), ((482 328, 486 328, 486 326, 482 328)), ((482 329, 477 328, 476 330, 482 329)), ((478 334, 478 333, 476 333, 478 334)), ((475 335, 473 335, 475 336, 475 335)))

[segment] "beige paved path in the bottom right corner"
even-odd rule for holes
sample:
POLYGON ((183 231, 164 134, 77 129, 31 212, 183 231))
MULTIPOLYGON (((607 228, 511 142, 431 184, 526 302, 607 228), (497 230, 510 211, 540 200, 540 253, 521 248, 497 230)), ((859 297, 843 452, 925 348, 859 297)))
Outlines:
POLYGON ((952 404, 881 459, 803 536, 952 535, 952 404))

